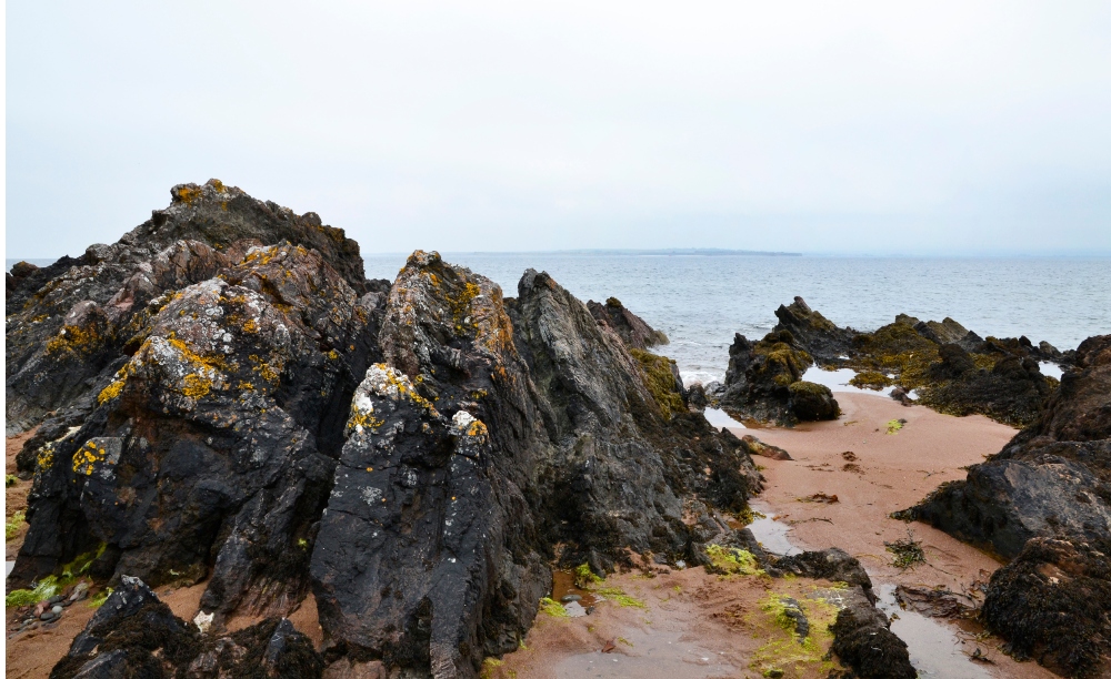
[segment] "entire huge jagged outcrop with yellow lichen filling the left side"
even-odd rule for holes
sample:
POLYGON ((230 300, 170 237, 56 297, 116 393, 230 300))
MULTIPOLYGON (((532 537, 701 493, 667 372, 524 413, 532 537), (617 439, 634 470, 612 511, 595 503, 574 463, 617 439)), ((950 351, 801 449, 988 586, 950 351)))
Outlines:
POLYGON ((553 566, 705 563, 711 513, 760 487, 615 301, 599 318, 534 271, 507 298, 424 252, 367 281, 312 213, 216 180, 172 197, 8 278, 8 429, 38 427, 9 587, 81 561, 150 607, 98 612, 63 676, 272 656, 472 677, 519 646, 553 566), (147 589, 197 582, 201 637, 147 589), (322 656, 281 621, 310 591, 322 656), (220 636, 241 614, 267 621, 220 636))

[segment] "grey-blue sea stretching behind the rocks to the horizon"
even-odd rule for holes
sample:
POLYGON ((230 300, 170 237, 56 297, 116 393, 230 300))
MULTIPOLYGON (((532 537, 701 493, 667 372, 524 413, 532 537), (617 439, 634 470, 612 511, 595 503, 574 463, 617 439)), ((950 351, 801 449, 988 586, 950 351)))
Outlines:
MULTIPOLYGON (((506 296, 516 296, 521 275, 536 268, 584 302, 617 297, 668 335, 671 343, 657 351, 678 363, 688 385, 722 379, 734 334, 762 337, 775 325, 775 308, 795 295, 860 331, 900 313, 949 316, 983 337, 1025 335, 1062 351, 1111 333, 1109 257, 442 254, 499 284, 506 296)), ((367 276, 392 281, 406 259, 363 255, 367 276)))

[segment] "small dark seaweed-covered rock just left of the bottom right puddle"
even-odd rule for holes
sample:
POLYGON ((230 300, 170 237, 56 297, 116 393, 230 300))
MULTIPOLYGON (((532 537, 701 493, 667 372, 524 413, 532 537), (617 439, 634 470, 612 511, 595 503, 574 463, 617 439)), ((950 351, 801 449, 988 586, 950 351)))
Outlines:
POLYGON ((907 643, 890 629, 887 616, 859 590, 849 589, 837 620, 831 650, 861 679, 914 679, 907 643))

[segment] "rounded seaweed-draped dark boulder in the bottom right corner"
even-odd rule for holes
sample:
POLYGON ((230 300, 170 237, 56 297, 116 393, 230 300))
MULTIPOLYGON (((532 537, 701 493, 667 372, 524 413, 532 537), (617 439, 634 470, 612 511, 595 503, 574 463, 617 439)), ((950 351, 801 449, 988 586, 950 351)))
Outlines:
POLYGON ((1019 658, 1068 677, 1111 657, 1111 541, 1034 538, 991 576, 981 619, 1019 658))

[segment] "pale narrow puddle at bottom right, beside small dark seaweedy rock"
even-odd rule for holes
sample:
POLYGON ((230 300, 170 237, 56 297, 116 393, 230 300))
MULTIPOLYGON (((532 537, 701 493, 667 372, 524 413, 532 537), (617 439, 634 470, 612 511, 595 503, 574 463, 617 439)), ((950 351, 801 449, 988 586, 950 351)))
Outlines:
POLYGON ((990 679, 988 670, 973 665, 962 650, 961 640, 952 630, 920 612, 903 610, 895 601, 895 586, 879 586, 880 610, 891 620, 891 631, 907 642, 910 662, 919 677, 945 679, 990 679))

